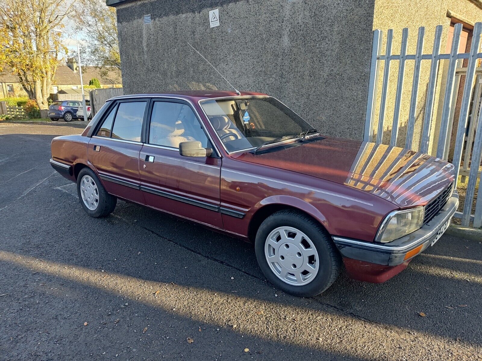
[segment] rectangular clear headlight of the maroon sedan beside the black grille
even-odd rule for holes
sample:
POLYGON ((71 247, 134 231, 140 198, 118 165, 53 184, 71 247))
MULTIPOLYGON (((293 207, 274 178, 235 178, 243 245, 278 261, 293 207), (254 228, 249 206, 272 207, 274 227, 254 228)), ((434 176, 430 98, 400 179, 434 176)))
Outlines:
POLYGON ((423 226, 424 207, 393 211, 383 220, 375 241, 387 243, 415 232, 423 226))

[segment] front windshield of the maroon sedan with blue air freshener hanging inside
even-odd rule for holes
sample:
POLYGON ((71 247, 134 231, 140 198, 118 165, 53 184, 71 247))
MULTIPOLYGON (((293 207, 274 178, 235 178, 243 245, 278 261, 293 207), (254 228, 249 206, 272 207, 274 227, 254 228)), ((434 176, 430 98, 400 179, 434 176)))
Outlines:
POLYGON ((290 108, 271 97, 236 97, 200 104, 228 152, 295 139, 313 130, 290 108))

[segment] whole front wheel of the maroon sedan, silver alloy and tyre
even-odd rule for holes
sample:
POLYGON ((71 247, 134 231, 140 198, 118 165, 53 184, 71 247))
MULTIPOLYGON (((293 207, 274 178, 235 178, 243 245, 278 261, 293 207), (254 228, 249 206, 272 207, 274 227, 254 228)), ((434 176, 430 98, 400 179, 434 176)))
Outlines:
POLYGON ((254 247, 268 281, 295 296, 320 294, 335 282, 341 269, 330 235, 300 212, 282 210, 265 219, 254 247))

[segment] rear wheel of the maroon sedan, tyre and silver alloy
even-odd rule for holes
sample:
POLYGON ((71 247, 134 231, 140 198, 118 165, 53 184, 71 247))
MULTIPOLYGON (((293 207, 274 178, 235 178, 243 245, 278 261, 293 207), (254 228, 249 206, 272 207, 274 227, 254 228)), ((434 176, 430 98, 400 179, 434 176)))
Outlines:
POLYGON ((113 212, 117 197, 107 193, 99 178, 90 168, 82 168, 77 177, 80 205, 91 217, 105 217, 113 212))

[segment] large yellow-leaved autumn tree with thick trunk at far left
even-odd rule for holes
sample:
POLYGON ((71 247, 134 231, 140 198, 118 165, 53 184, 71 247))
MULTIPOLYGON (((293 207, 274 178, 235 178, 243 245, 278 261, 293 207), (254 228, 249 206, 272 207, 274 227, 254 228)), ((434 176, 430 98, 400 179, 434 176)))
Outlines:
POLYGON ((40 109, 48 109, 59 54, 67 52, 52 29, 63 27, 72 7, 70 0, 0 0, 0 67, 20 78, 40 109))

